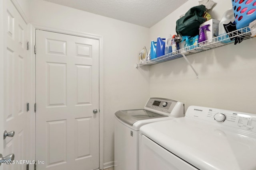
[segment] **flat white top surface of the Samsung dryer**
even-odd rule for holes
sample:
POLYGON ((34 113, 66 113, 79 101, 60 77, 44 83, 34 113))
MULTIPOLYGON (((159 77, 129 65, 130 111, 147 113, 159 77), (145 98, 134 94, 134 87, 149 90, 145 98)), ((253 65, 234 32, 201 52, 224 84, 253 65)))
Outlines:
POLYGON ((144 125, 140 134, 198 169, 256 169, 254 133, 180 117, 144 125))

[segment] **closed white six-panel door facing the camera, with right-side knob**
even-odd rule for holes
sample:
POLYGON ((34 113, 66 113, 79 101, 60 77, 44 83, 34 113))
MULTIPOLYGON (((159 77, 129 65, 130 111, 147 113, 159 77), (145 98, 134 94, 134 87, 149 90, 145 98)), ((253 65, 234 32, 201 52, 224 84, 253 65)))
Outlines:
POLYGON ((36 30, 38 170, 99 168, 99 41, 36 30))

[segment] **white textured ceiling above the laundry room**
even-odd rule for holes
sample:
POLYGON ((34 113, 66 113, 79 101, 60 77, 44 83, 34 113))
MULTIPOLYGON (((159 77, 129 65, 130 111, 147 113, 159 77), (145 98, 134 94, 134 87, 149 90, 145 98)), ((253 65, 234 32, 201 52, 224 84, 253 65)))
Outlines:
POLYGON ((46 0, 144 27, 152 27, 188 0, 46 0))

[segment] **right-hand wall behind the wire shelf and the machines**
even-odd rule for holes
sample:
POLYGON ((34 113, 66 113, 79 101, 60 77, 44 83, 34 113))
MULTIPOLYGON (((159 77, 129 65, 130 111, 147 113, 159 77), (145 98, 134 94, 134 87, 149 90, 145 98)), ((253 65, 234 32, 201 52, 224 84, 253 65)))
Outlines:
MULTIPOLYGON (((221 20, 231 0, 214 0, 212 18, 221 20)), ((176 20, 198 0, 189 0, 150 28, 150 40, 176 34, 176 20)), ((150 97, 159 96, 191 105, 256 113, 256 38, 188 56, 199 79, 180 58, 150 67, 150 97)))

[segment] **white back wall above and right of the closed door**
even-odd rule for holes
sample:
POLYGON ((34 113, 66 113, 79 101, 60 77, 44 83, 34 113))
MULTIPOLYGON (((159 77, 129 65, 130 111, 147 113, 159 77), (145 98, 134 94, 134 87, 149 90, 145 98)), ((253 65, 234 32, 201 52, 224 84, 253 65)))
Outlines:
POLYGON ((144 107, 148 69, 136 69, 149 29, 42 0, 30 1, 30 22, 103 36, 104 162, 114 160, 114 113, 144 107))

